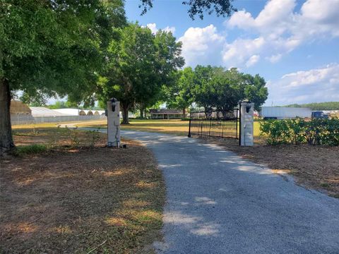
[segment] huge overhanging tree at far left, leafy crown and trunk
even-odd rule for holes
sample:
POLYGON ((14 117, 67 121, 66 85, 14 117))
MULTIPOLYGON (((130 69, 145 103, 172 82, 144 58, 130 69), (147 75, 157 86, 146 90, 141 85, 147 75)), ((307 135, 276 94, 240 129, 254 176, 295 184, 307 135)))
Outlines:
POLYGON ((0 150, 13 147, 13 92, 83 99, 104 63, 120 0, 12 0, 0 4, 0 150))

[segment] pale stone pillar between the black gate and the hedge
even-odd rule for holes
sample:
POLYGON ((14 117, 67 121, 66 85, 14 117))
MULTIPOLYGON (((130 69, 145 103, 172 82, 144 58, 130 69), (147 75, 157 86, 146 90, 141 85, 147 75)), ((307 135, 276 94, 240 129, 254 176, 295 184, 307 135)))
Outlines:
POLYGON ((254 130, 254 103, 241 102, 240 104, 240 145, 253 145, 254 130))

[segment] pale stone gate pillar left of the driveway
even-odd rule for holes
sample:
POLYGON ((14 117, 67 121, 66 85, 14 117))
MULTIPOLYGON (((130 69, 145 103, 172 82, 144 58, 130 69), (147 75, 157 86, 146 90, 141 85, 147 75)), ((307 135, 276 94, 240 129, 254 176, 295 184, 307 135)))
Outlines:
POLYGON ((120 102, 114 98, 107 102, 107 146, 120 147, 120 102))

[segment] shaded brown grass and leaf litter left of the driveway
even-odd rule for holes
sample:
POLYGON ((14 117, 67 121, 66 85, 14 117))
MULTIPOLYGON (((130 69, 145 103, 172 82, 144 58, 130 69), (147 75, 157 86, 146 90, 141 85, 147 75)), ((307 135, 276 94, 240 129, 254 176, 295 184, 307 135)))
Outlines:
POLYGON ((104 147, 105 134, 88 147, 83 131, 77 146, 53 128, 16 134, 18 145, 54 146, 1 158, 0 253, 152 251, 165 185, 149 150, 133 140, 123 140, 126 149, 104 147))

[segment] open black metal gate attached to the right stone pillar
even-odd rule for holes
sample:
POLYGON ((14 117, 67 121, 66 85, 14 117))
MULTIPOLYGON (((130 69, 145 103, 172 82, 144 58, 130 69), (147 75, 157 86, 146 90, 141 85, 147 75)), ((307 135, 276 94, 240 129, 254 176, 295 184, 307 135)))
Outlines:
POLYGON ((239 142, 239 109, 222 114, 221 111, 191 112, 189 118, 189 138, 225 138, 239 142))

